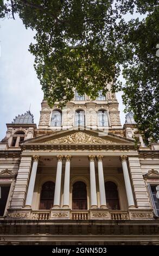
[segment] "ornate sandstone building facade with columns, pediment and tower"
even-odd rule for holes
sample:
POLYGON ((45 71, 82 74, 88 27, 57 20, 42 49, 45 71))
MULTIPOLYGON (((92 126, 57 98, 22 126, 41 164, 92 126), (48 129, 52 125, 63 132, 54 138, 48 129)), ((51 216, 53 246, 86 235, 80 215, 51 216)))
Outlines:
POLYGON ((110 89, 43 100, 39 126, 18 115, 0 143, 0 245, 158 245, 158 153, 110 89))

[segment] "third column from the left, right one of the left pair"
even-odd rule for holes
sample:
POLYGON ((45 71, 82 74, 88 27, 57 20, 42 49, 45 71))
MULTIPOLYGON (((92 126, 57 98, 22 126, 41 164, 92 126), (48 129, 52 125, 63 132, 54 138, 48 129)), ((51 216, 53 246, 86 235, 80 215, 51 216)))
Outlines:
POLYGON ((65 156, 66 165, 65 165, 65 181, 64 181, 64 190, 63 190, 63 206, 62 208, 69 208, 69 179, 70 179, 70 161, 71 156, 65 156))

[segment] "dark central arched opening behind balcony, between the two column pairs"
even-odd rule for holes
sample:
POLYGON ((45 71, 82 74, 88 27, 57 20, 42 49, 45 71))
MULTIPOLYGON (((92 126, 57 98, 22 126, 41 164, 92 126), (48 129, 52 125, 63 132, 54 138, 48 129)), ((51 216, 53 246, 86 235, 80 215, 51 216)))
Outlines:
POLYGON ((82 181, 77 181, 73 184, 72 209, 73 210, 87 210, 86 184, 82 181))

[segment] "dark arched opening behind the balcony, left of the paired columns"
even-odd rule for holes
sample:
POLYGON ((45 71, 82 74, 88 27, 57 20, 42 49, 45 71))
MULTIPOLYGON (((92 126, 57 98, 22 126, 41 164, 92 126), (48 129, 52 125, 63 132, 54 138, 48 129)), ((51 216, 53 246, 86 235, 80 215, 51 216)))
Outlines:
POLYGON ((40 197, 40 210, 49 210, 54 203, 55 184, 47 181, 42 185, 40 197))

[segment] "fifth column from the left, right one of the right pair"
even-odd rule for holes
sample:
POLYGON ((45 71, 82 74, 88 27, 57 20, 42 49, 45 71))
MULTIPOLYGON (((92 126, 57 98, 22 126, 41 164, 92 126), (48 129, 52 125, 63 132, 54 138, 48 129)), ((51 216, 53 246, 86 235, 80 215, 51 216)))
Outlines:
POLYGON ((105 185, 103 174, 103 156, 97 156, 98 161, 98 178, 99 178, 99 193, 100 193, 100 208, 106 209, 105 185))

